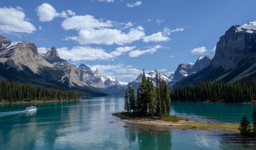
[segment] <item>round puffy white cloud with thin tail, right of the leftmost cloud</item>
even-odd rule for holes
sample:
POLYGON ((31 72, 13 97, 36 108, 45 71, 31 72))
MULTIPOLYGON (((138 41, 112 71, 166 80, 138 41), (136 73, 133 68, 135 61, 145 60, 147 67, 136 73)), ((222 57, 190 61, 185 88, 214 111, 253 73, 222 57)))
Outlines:
POLYGON ((67 12, 62 11, 58 13, 52 5, 44 3, 36 8, 37 16, 39 17, 39 21, 46 22, 51 21, 55 17, 68 18, 68 16, 76 15, 75 12, 71 10, 67 10, 67 12))

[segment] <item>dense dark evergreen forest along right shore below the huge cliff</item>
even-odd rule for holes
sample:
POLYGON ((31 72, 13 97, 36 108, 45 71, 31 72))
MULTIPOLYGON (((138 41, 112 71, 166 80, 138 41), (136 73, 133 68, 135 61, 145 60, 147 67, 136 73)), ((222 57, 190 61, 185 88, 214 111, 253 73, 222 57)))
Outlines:
POLYGON ((171 90, 171 98, 172 101, 252 102, 256 99, 256 81, 252 79, 224 83, 206 80, 193 85, 185 82, 184 87, 176 86, 171 90))

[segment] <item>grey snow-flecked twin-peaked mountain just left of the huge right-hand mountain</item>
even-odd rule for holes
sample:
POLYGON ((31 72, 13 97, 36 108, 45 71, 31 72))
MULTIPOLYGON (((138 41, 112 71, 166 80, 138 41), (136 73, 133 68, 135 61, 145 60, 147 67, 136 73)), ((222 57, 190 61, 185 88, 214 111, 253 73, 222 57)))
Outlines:
POLYGON ((179 64, 177 67, 176 71, 174 72, 172 81, 168 83, 168 86, 173 86, 175 85, 176 82, 180 81, 183 78, 187 78, 190 75, 193 75, 203 68, 207 67, 209 63, 212 61, 212 57, 210 56, 200 56, 195 64, 193 63, 184 63, 184 64, 179 64))

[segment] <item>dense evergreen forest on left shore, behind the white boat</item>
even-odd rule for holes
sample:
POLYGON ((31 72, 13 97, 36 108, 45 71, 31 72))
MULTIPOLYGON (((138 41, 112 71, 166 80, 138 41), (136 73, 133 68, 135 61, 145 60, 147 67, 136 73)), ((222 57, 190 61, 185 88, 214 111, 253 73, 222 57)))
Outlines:
POLYGON ((80 99, 78 91, 66 91, 61 89, 49 89, 42 86, 34 86, 31 84, 21 84, 0 81, 0 100, 5 102, 20 102, 20 101, 56 101, 56 100, 77 100, 80 99))

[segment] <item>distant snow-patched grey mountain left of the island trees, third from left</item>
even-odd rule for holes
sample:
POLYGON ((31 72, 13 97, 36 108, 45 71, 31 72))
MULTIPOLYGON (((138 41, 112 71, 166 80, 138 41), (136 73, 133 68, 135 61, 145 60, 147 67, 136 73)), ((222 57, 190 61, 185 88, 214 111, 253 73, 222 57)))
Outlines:
POLYGON ((109 94, 119 94, 118 91, 125 87, 113 76, 99 74, 98 68, 89 68, 85 64, 78 67, 83 72, 83 81, 88 85, 109 94))

